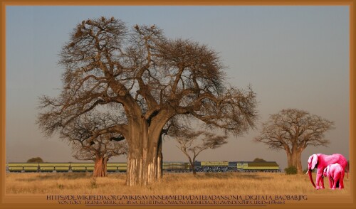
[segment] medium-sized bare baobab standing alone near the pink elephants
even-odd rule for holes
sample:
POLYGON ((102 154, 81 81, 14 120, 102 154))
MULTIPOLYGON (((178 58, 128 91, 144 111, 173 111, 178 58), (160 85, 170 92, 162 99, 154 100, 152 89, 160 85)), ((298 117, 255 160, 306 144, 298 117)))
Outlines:
POLYGON ((300 109, 283 109, 271 114, 263 123, 261 134, 255 140, 268 145, 270 149, 284 149, 288 167, 295 166, 302 173, 300 156, 307 146, 327 146, 325 132, 333 129, 334 122, 300 109))

